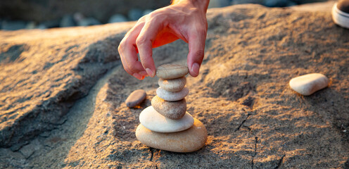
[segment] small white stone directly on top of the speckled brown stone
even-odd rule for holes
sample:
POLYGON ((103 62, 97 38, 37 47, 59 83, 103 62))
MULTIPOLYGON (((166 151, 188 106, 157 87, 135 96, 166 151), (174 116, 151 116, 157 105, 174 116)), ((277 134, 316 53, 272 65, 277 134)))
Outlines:
POLYGON ((184 99, 184 97, 189 94, 189 89, 184 87, 179 92, 168 92, 165 89, 158 87, 158 89, 156 89, 156 94, 158 94, 158 96, 165 101, 179 101, 184 99))

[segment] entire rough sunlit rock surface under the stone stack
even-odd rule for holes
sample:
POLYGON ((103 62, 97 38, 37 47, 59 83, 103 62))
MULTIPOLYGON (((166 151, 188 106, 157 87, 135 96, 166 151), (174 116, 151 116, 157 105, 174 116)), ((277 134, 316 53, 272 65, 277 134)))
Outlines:
MULTIPOLYGON (((118 65, 116 46, 128 29, 0 32, 1 146, 12 148, 0 149, 0 168, 349 168, 349 30, 329 11, 208 11, 205 58, 200 75, 187 79, 186 101, 209 137, 190 154, 149 148, 134 135, 158 79, 139 81, 118 65), (288 81, 307 73, 322 73, 331 84, 300 96, 288 81), (141 108, 124 102, 134 89, 148 94, 141 108), (52 130, 17 134, 37 125, 52 130)), ((177 41, 153 57, 161 65, 185 62, 186 54, 187 44, 177 41)))

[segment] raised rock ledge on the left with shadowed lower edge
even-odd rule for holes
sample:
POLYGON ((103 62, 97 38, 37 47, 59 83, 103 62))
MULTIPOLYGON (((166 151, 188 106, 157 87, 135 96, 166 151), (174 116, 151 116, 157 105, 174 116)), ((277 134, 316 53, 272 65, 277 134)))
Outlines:
POLYGON ((24 144, 64 123, 68 108, 120 63, 118 32, 94 27, 0 32, 0 147, 24 144))

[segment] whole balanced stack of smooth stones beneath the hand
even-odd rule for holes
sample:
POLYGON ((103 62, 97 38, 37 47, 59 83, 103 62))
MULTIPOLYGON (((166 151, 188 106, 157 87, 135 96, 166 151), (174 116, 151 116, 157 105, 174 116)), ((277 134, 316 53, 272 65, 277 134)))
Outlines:
POLYGON ((160 78, 157 96, 151 105, 139 115, 141 124, 136 137, 147 146, 174 152, 192 152, 201 149, 207 139, 203 123, 186 112, 189 93, 185 75, 189 70, 184 65, 165 64, 158 67, 160 78))

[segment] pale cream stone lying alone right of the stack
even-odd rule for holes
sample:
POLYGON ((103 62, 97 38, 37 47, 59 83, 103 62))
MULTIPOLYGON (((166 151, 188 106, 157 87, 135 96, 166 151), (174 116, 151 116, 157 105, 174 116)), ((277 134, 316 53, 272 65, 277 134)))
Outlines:
POLYGON ((304 96, 309 96, 319 89, 324 89, 329 85, 329 79, 320 73, 310 73, 294 77, 290 80, 290 87, 304 96))

